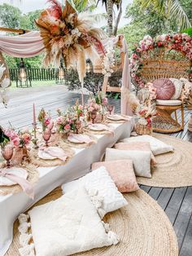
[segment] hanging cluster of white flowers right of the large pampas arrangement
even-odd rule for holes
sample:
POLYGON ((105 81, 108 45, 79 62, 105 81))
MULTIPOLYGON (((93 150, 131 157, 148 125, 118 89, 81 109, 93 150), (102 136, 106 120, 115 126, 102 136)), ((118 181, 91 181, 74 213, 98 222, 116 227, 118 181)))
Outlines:
POLYGON ((106 55, 103 57, 103 70, 102 73, 106 77, 111 77, 111 73, 114 72, 116 59, 114 58, 115 50, 111 42, 105 47, 106 55))

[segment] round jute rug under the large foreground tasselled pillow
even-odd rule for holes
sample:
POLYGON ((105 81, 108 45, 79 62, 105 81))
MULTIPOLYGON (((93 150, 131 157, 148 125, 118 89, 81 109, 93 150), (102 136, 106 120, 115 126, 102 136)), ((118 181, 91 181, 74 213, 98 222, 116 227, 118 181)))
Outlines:
MULTIPOLYGON (((46 203, 61 196, 57 188, 36 205, 46 203)), ((164 210, 151 196, 141 189, 124 194, 129 204, 120 210, 107 214, 104 221, 110 223, 111 230, 120 237, 120 243, 101 249, 74 255, 85 256, 177 256, 177 237, 164 210)), ((7 256, 17 256, 19 245, 18 223, 14 225, 14 241, 7 256)))

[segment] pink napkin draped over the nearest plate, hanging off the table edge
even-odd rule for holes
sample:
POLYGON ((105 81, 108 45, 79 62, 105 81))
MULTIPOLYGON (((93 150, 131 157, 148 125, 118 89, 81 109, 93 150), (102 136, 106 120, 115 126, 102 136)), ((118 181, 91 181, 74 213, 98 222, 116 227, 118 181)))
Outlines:
POLYGON ((34 198, 34 189, 31 183, 29 183, 26 179, 21 178, 11 172, 7 172, 6 170, 0 169, 0 176, 10 179, 14 183, 18 183, 23 191, 28 194, 30 198, 34 198))

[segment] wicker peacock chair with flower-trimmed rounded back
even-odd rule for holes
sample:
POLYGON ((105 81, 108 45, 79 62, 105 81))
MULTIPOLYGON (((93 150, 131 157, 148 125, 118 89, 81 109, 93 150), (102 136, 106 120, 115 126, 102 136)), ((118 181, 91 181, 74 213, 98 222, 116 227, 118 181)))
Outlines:
MULTIPOLYGON (((141 70, 145 82, 153 82, 159 78, 188 78, 190 60, 173 51, 151 51, 145 55, 141 70)), ((162 133, 173 133, 184 129, 184 103, 179 99, 157 100, 158 115, 153 120, 153 130, 162 133), (181 110, 181 123, 177 118, 177 110, 181 110), (174 115, 173 115, 174 113, 174 115)))

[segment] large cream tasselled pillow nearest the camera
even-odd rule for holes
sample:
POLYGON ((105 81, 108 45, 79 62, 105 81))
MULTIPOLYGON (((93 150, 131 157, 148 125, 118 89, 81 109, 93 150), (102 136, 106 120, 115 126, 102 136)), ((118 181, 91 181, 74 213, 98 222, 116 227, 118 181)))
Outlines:
MULTIPOLYGON (((116 245, 119 241, 116 233, 109 231, 108 224, 103 223, 99 218, 85 188, 67 193, 45 205, 34 207, 28 214, 31 218, 37 256, 71 255, 89 249, 116 245)), ((28 234, 22 228, 28 225, 23 215, 19 218, 20 243, 24 246, 20 248, 20 254, 32 256, 33 245, 28 245, 26 242, 28 234), (31 254, 25 254, 27 249, 31 254)))

